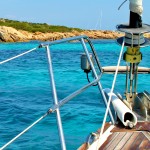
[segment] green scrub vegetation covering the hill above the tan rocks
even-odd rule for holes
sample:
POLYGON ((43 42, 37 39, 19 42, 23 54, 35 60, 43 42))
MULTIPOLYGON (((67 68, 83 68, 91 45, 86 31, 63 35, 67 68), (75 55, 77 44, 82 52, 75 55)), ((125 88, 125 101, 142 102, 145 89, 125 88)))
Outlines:
POLYGON ((46 23, 30 23, 30 22, 20 22, 9 19, 0 19, 0 26, 13 27, 17 30, 25 30, 28 32, 71 32, 73 30, 82 31, 79 28, 69 28, 65 26, 54 26, 48 25, 46 23))

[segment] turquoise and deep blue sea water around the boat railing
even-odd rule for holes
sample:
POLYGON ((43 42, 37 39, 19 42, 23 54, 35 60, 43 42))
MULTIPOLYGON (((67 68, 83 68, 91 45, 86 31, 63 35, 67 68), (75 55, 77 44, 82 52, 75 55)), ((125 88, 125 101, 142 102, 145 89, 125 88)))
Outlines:
MULTIPOLYGON (((120 46, 113 40, 95 40, 102 66, 116 65, 120 46)), ((38 41, 1 43, 0 61, 37 47, 38 41)), ((142 66, 150 67, 149 48, 142 48, 142 66)), ((80 69, 80 43, 51 47, 54 76, 59 100, 87 84, 80 69)), ((125 63, 122 61, 122 65, 125 63)), ((49 72, 45 49, 39 49, 21 58, 0 65, 0 147, 40 118, 52 105, 49 72)), ((92 76, 90 76, 92 80, 92 76)), ((115 91, 123 93, 125 75, 119 75, 115 91)), ((149 91, 150 77, 138 77, 138 91, 149 91), (144 84, 143 84, 144 83, 144 84)), ((111 87, 113 75, 103 75, 104 88, 111 87)), ((87 135, 96 131, 104 116, 105 107, 97 87, 91 87, 68 102, 61 109, 63 129, 68 150, 77 149, 87 135)), ((49 115, 25 133, 7 149, 38 150, 61 149, 55 114, 49 115)))

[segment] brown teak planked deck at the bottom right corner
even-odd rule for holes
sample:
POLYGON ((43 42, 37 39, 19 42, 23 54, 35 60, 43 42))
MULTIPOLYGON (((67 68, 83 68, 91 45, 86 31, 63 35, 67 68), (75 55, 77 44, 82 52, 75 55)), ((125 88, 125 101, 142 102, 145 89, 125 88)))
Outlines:
POLYGON ((150 149, 150 123, 138 122, 134 129, 116 126, 99 150, 150 149))

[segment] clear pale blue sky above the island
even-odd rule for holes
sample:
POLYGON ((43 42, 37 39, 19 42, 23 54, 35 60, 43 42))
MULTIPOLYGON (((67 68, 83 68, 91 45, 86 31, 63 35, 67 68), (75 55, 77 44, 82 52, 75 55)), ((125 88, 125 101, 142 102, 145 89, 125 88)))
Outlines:
MULTIPOLYGON (((1 0, 0 18, 82 29, 115 30, 128 22, 129 2, 124 0, 1 0)), ((150 24, 150 0, 143 0, 143 22, 150 24)))

